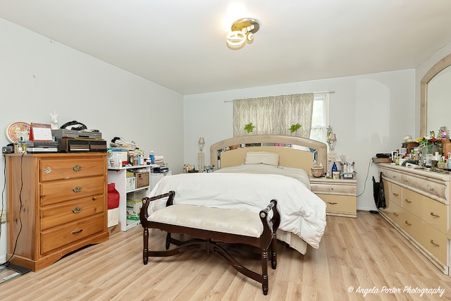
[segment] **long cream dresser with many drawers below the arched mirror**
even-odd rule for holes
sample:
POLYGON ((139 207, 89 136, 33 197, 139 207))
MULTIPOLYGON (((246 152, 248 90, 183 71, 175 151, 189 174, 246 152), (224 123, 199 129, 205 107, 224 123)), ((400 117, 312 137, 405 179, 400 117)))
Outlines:
POLYGON ((450 272, 450 175, 378 164, 385 203, 381 215, 444 274, 450 272))

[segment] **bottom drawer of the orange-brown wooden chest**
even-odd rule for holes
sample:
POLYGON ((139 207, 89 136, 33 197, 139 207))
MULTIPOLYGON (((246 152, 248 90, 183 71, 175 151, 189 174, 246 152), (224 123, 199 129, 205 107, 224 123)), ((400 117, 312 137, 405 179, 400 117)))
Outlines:
POLYGON ((42 231, 41 254, 56 250, 58 247, 70 245, 77 240, 87 238, 89 235, 102 232, 104 231, 104 226, 104 214, 98 214, 64 226, 42 231))

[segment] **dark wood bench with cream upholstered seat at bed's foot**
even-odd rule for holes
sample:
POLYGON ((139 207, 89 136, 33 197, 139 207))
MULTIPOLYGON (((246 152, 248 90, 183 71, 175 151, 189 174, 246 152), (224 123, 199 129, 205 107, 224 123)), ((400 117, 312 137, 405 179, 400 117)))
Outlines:
MULTIPOLYGON (((155 197, 144 197, 140 211, 143 231, 143 262, 149 257, 163 257, 180 254, 188 250, 206 250, 221 255, 240 273, 261 283, 264 295, 268 294, 268 252, 271 252, 271 267, 276 269, 276 230, 280 223, 276 199, 259 214, 236 209, 173 204, 175 192, 171 191, 155 197), (156 199, 167 198, 166 207, 153 211, 149 215, 148 207, 156 199), (166 250, 149 250, 149 229, 166 231, 166 250), (171 233, 183 233, 189 240, 176 240, 171 233), (171 250, 173 243, 178 245, 171 250), (248 245, 259 250, 261 274, 256 273, 237 262, 230 254, 234 247, 248 245), (270 250, 270 251, 268 251, 270 250)), ((237 254, 242 254, 242 250, 237 254)))

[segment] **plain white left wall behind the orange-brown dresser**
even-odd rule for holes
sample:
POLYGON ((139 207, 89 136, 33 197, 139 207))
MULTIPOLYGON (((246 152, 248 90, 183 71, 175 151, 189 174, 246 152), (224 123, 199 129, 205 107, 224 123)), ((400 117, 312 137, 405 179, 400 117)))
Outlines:
MULTIPOLYGON (((163 155, 175 173, 182 171, 181 94, 1 18, 0 32, 0 129, 14 121, 50 123, 49 113, 56 111, 60 125, 80 121, 100 130, 108 144, 116 136, 135 141, 147 155, 151 149, 163 155)), ((8 143, 0 135, 0 145, 8 143)), ((0 262, 6 257, 6 235, 4 223, 0 262)))

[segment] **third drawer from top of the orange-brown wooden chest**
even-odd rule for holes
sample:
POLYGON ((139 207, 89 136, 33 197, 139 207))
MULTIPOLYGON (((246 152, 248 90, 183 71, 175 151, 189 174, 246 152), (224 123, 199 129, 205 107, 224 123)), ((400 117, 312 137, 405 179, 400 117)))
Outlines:
POLYGON ((98 197, 84 197, 41 209, 41 230, 63 225, 70 221, 77 221, 104 211, 105 199, 98 197))

